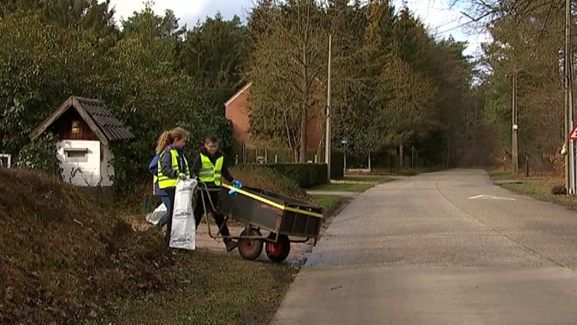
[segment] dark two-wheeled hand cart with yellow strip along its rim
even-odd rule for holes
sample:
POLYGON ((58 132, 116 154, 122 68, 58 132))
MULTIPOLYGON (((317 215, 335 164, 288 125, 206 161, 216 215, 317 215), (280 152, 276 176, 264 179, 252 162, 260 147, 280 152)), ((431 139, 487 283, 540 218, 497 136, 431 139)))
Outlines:
MULTIPOLYGON (((206 191, 207 194, 213 191, 204 182, 199 181, 198 184, 199 191, 206 191)), ((215 239, 238 239, 238 253, 245 260, 258 258, 264 247, 267 257, 280 263, 288 257, 291 242, 305 243, 314 239, 313 245, 316 246, 324 221, 323 209, 319 206, 256 187, 236 189, 222 184, 218 191, 220 204, 216 209, 210 195, 200 195, 205 215, 206 196, 213 210, 218 209, 225 216, 224 224, 233 217, 245 223, 245 229, 238 236, 223 236, 220 229, 216 235, 212 235, 211 218, 207 217, 208 234, 215 239), (235 193, 228 194, 229 190, 235 190, 235 193), (261 230, 267 231, 268 235, 264 236, 261 230)))

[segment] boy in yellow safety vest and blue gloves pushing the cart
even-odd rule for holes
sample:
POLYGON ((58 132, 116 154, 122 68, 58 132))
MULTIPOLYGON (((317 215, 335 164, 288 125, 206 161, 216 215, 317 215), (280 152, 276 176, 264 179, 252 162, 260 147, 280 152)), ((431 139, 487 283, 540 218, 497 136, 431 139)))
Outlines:
MULTIPOLYGON (((215 208, 219 204, 220 195, 220 184, 222 184, 222 179, 224 178, 228 183, 238 183, 238 187, 241 186, 238 180, 235 180, 228 168, 226 162, 224 161, 224 154, 220 152, 218 146, 218 139, 214 135, 209 135, 204 140, 204 145, 198 150, 199 153, 194 158, 192 163, 192 168, 190 171, 198 176, 198 179, 207 184, 209 195, 215 208)), ((205 191, 202 191, 203 195, 206 195, 205 191)), ((230 235, 226 223, 224 223, 224 216, 218 211, 213 211, 208 198, 204 197, 207 212, 212 212, 212 216, 216 221, 216 225, 220 228, 220 234, 223 236, 230 235)), ((200 223, 203 217, 204 208, 202 198, 198 197, 196 199, 196 206, 194 206, 194 219, 196 220, 196 227, 200 223)), ((226 245, 227 252, 235 249, 237 247, 237 242, 228 238, 224 238, 224 245, 226 245)))

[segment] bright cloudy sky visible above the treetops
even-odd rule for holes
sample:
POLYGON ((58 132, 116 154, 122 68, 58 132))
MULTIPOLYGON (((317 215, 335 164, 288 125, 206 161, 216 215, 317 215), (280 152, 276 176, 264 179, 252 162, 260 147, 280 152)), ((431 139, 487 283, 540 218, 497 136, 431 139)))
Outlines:
MULTIPOLYGON (((116 10, 117 20, 132 16, 134 11, 144 8, 143 0, 112 0, 116 10)), ((252 7, 253 0, 156 0, 152 9, 162 14, 166 9, 172 9, 180 18, 181 25, 192 28, 198 20, 207 16, 215 16, 220 12, 224 19, 231 19, 237 14, 244 20, 246 13, 252 7)), ((402 8, 402 0, 392 0, 395 9, 402 8)), ((452 35, 455 40, 468 41, 466 55, 479 56, 480 44, 486 42, 488 36, 476 34, 463 27, 468 19, 460 13, 460 8, 451 8, 449 0, 406 0, 407 7, 421 18, 430 31, 439 38, 452 35)))

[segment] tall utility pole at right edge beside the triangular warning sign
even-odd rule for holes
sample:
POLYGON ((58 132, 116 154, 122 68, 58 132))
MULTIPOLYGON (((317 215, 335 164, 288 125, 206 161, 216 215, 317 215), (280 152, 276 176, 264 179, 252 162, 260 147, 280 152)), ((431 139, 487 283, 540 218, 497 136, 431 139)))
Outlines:
POLYGON ((565 0, 565 143, 568 148, 567 156, 565 157, 565 186, 567 187, 567 193, 575 194, 575 143, 568 139, 569 132, 573 130, 571 24, 571 0, 565 0))

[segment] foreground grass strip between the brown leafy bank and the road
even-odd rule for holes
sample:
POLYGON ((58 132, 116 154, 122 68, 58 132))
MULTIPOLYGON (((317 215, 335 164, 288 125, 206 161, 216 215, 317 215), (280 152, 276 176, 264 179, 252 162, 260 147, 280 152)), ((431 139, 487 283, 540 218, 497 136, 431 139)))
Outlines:
POLYGON ((164 290, 117 300, 118 315, 102 322, 268 324, 297 272, 202 249, 175 253, 164 290))

